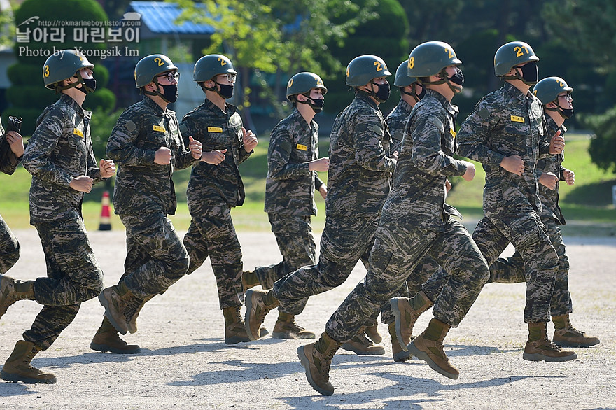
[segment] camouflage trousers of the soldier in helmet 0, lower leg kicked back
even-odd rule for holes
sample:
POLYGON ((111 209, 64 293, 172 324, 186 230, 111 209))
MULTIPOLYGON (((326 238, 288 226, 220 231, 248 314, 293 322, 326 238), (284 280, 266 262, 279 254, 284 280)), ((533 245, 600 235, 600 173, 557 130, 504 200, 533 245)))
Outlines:
POLYGON ((272 289, 274 282, 300 267, 316 264, 316 242, 310 225, 310 215, 292 216, 268 213, 269 224, 276 236, 282 262, 256 267, 255 275, 264 289, 272 289))

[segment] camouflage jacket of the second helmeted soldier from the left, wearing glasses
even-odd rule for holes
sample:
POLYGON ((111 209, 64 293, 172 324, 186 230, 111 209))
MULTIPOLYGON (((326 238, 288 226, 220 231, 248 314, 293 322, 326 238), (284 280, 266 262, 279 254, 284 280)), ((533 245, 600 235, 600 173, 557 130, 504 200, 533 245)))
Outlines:
POLYGON ((173 215, 177 206, 174 168, 183 169, 198 161, 184 146, 176 113, 160 108, 149 97, 120 115, 107 141, 107 155, 119 166, 113 206, 120 215, 173 215), (154 163, 160 147, 171 150, 170 164, 154 163))

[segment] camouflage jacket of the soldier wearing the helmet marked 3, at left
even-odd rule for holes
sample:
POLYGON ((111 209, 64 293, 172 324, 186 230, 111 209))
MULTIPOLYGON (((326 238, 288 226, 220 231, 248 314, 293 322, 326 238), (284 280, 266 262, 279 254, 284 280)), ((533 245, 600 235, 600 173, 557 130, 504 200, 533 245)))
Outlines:
POLYGON ((72 178, 86 175, 102 181, 90 139, 90 118, 66 94, 45 108, 24 153, 24 168, 32 174, 30 223, 60 220, 78 211, 83 192, 69 186, 72 178))

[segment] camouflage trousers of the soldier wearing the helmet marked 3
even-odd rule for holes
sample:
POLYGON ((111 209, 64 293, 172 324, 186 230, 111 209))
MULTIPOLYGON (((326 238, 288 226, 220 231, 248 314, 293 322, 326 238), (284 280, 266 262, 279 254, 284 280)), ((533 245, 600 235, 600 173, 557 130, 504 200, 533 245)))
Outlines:
POLYGON ((103 289, 103 272, 77 212, 73 218, 34 225, 41 238, 47 277, 34 281, 34 297, 43 309, 24 340, 47 349, 71 324, 81 302, 103 289))

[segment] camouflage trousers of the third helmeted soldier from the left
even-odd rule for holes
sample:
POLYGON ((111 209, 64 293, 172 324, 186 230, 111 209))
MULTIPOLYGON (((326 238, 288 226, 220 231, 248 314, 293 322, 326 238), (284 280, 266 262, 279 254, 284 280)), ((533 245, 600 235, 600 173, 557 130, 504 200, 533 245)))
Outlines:
POLYGON ((191 274, 209 256, 221 309, 239 307, 244 302, 241 285, 241 248, 231 220, 231 208, 225 203, 212 204, 207 213, 195 216, 184 235, 184 246, 190 255, 191 274))

